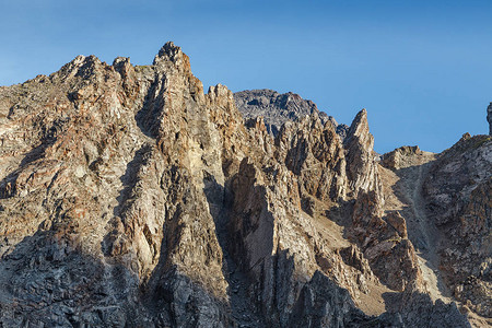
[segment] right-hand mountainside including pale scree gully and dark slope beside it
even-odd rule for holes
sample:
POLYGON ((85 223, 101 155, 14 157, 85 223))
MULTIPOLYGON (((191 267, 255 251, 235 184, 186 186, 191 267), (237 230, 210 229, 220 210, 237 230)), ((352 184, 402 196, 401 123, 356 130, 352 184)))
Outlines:
MULTIPOLYGON (((403 147, 383 155, 382 164, 391 169, 396 183, 390 183, 389 171, 380 169, 395 190, 385 208, 406 219, 425 290, 434 300, 459 300, 461 311, 485 318, 490 317, 491 291, 488 278, 477 274, 477 268, 487 268, 490 258, 484 239, 490 218, 490 201, 484 196, 490 194, 489 153, 490 137, 465 133, 442 154, 403 147)), ((491 324, 475 318, 472 323, 477 327, 491 324)))

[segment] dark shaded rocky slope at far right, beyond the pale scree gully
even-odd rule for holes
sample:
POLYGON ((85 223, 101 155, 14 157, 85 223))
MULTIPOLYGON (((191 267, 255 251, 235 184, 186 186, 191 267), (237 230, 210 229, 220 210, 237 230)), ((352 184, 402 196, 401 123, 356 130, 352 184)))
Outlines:
POLYGON ((444 235, 444 279, 457 300, 485 317, 492 316, 491 172, 491 137, 464 136, 435 161, 424 183, 427 215, 444 235))

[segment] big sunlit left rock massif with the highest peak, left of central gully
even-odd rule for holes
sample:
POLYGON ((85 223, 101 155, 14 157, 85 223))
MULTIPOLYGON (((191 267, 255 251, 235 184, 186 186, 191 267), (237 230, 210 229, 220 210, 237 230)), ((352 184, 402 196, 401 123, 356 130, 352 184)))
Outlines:
POLYGON ((222 148, 218 147, 222 136, 215 128, 220 121, 213 119, 219 108, 223 115, 227 106, 234 108, 232 93, 218 86, 206 96, 191 74, 188 57, 172 44, 161 49, 150 67, 136 68, 127 59, 107 66, 95 57, 78 57, 49 78, 7 90, 3 102, 15 102, 17 90, 26 87, 44 87, 46 99, 35 103, 39 108, 19 103, 3 107, 9 109, 4 124, 20 125, 21 131, 34 136, 26 139, 32 145, 16 145, 16 153, 5 152, 11 142, 23 142, 13 134, 19 130, 4 136, 7 161, 2 163, 19 164, 2 177, 1 214, 17 219, 15 224, 2 221, 2 235, 9 236, 2 245, 2 266, 9 274, 1 278, 7 283, 15 274, 19 281, 4 293, 4 304, 10 305, 2 313, 25 311, 23 320, 58 325, 67 316, 57 312, 52 318, 50 304, 56 303, 77 314, 68 319, 73 323, 106 326, 117 316, 121 323, 143 325, 138 323, 149 315, 160 318, 159 325, 183 326, 190 323, 188 309, 194 306, 192 320, 227 326, 223 255, 204 181, 213 176, 224 184, 222 148), (25 110, 40 112, 30 121, 25 110), (25 207, 32 210, 24 211, 25 207), (19 211, 25 215, 15 214, 19 211), (24 238, 32 234, 38 237, 24 238), (43 256, 39 251, 45 248, 36 243, 46 244, 47 249, 61 245, 55 249, 62 247, 58 250, 62 257, 48 250, 43 256), (13 255, 23 247, 39 251, 19 261, 13 255), (68 285, 46 286, 42 272, 23 265, 35 258, 43 261, 48 277, 58 272, 60 260, 67 272, 72 267, 83 272, 89 266, 94 273, 85 278, 71 273, 77 277, 68 285), (82 278, 84 284, 78 284, 82 278), (37 289, 27 292, 33 281, 38 281, 37 289), (51 293, 62 296, 44 296, 46 305, 28 311, 33 305, 25 295, 51 293), (169 301, 163 295, 174 296, 169 301), (86 314, 78 307, 82 303, 73 303, 78 297, 91 300, 83 305, 86 314), (14 303, 19 305, 9 300, 19 300, 14 303), (173 306, 149 307, 143 300, 173 306), (99 307, 108 313, 107 319, 94 321, 99 307), (143 309, 132 316, 126 307, 143 309))

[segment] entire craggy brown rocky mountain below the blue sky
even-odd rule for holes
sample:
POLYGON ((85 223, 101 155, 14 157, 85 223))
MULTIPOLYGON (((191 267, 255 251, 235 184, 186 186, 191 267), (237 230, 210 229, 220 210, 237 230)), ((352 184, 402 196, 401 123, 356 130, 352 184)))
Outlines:
POLYGON ((490 326, 491 138, 338 127, 173 43, 0 87, 0 326, 490 326))

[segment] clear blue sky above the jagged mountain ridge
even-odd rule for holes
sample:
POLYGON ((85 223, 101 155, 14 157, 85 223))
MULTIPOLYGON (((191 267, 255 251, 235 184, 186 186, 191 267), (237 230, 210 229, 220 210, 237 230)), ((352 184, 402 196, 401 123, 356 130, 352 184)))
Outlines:
POLYGON ((173 40, 206 89, 292 91, 345 124, 367 108, 382 153, 488 133, 492 1, 0 0, 0 85, 173 40))

